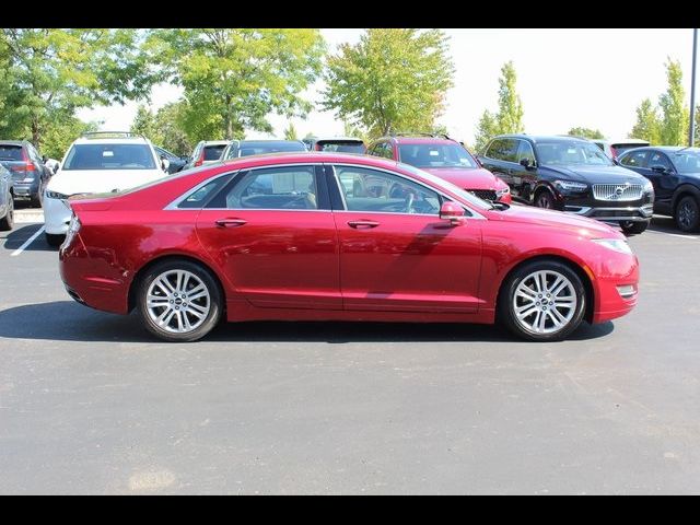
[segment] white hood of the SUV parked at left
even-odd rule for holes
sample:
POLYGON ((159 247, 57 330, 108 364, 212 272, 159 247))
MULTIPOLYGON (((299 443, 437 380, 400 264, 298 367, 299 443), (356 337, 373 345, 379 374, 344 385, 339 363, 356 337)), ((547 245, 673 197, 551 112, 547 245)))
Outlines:
POLYGON ((63 195, 106 194, 147 184, 167 174, 160 170, 75 170, 59 171, 46 189, 63 195))

